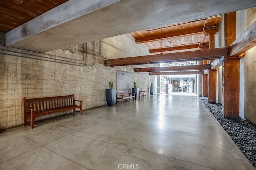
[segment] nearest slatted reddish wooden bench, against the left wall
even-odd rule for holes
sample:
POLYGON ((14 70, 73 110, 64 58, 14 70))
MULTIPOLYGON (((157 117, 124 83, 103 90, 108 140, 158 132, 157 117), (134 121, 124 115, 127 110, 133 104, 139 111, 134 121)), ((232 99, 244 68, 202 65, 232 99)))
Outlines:
POLYGON ((24 125, 30 124, 31 128, 34 128, 34 120, 36 117, 41 115, 46 115, 50 113, 56 113, 66 110, 73 109, 73 114, 75 112, 80 112, 82 115, 82 102, 80 100, 75 100, 75 95, 67 96, 56 96, 56 97, 41 97, 27 99, 24 97, 24 125), (76 105, 75 102, 80 102, 80 105, 76 105), (75 109, 80 109, 76 111, 75 109), (30 121, 28 121, 30 117, 30 121))

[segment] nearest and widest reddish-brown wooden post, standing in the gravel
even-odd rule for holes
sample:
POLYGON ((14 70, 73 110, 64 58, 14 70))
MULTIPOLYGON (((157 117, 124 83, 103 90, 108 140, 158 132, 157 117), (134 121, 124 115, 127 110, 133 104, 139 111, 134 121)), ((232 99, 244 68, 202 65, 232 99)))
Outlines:
MULTIPOLYGON (((236 12, 225 14, 226 46, 236 40, 236 12)), ((228 58, 222 62, 222 108, 226 118, 239 117, 240 60, 228 58)))

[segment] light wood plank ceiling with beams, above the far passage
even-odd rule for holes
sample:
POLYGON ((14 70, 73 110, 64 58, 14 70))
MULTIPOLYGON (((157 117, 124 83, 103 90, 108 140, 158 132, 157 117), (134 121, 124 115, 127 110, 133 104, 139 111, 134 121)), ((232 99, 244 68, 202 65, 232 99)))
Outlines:
POLYGON ((198 46, 199 49, 209 49, 209 35, 218 33, 221 18, 222 15, 169 24, 131 35, 136 43, 146 45, 151 54, 192 51, 197 50, 198 46))

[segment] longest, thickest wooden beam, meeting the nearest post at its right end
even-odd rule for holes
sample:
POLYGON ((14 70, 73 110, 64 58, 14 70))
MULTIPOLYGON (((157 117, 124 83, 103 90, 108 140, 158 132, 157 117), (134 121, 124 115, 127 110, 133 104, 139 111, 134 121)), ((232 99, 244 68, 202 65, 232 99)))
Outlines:
POLYGON ((207 59, 219 59, 220 57, 227 55, 227 48, 202 49, 196 51, 184 51, 177 53, 144 55, 138 57, 126 57, 118 59, 106 59, 104 65, 114 67, 122 65, 155 64, 180 61, 200 61, 207 59))

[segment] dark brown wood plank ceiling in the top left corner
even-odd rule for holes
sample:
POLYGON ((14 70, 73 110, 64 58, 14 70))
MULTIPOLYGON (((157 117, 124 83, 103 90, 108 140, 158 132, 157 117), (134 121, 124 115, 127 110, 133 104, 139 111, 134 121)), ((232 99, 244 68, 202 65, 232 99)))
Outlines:
POLYGON ((0 32, 8 32, 68 0, 0 0, 0 32))

